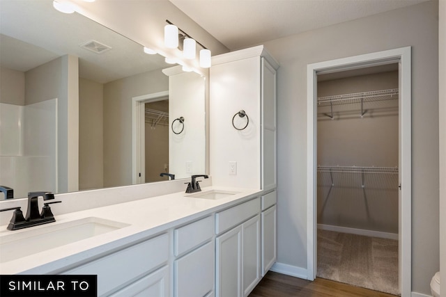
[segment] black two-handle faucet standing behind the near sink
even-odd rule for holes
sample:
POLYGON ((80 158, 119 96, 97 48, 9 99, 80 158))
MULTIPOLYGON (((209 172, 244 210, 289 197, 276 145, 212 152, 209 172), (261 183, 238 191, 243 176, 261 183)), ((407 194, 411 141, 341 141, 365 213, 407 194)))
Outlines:
POLYGON ((28 193, 28 209, 26 209, 26 216, 23 216, 20 207, 10 207, 7 209, 0 209, 0 211, 14 210, 13 218, 11 218, 8 230, 19 230, 27 227, 43 225, 55 222, 56 219, 52 214, 49 204, 60 203, 62 201, 45 202, 42 211, 39 212, 38 198, 43 197, 43 200, 53 200, 54 193, 52 192, 30 192, 28 193))

